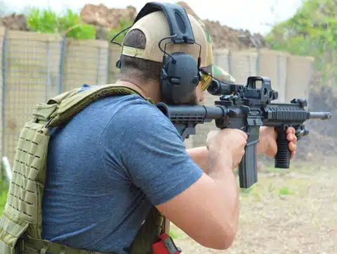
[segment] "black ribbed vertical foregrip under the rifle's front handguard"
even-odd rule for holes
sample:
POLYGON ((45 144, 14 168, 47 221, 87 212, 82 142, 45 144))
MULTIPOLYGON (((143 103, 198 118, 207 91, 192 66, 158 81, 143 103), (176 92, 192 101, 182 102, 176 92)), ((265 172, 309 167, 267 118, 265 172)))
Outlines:
POLYGON ((275 167, 289 168, 290 150, 286 139, 286 129, 277 129, 277 154, 275 155, 275 167))

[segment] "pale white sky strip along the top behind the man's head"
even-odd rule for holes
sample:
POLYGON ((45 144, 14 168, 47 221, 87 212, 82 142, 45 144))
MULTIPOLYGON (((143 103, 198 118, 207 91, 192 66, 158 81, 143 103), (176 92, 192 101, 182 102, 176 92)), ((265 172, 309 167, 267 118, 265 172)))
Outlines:
MULTIPOLYGON (((61 12, 66 8, 80 11, 84 4, 104 4, 108 8, 126 8, 131 5, 140 11, 148 1, 143 0, 3 0, 10 6, 34 6, 61 12)), ((149 0, 150 1, 150 0, 149 0)), ((156 0, 162 2, 162 0, 156 0)), ((176 3, 176 0, 164 0, 176 3)), ((302 0, 185 0, 201 19, 219 21, 235 29, 250 30, 265 34, 270 25, 290 18, 302 0), (223 4, 220 4, 223 3, 223 4), (207 5, 206 5, 207 4, 207 5), (275 11, 272 11, 274 7, 275 11)))

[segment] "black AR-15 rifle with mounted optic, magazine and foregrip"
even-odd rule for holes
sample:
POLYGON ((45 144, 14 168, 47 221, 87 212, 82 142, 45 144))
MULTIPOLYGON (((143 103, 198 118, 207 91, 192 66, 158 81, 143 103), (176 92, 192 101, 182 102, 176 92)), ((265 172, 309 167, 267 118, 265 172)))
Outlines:
POLYGON ((286 139, 286 129, 296 129, 296 136, 306 136, 309 130, 303 123, 309 119, 325 120, 331 118, 329 112, 309 112, 305 110, 305 99, 293 99, 290 103, 272 103, 278 92, 272 90, 268 77, 249 77, 246 86, 223 84, 213 80, 207 91, 220 95, 216 106, 178 106, 157 103, 157 107, 178 129, 182 139, 195 134, 195 126, 215 120, 216 127, 241 129, 248 134, 244 157, 239 163, 239 184, 247 189, 256 182, 257 151, 261 126, 275 127, 277 131, 277 154, 275 167, 289 168, 290 151, 286 139), (256 82, 261 86, 256 87, 256 82))

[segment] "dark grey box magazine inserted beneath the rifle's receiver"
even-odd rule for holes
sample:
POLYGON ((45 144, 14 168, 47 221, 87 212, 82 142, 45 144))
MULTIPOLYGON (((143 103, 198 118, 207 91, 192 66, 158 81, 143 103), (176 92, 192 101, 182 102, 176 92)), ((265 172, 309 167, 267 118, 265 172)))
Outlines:
POLYGON ((257 144, 258 141, 254 141, 244 148, 245 153, 239 164, 240 188, 248 189, 258 182, 257 144))

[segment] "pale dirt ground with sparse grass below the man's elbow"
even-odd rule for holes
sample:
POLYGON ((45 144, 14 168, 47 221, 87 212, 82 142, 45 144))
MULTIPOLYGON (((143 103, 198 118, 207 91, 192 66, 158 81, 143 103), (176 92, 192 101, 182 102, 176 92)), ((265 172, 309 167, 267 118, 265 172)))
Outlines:
POLYGON ((242 191, 237 239, 228 250, 204 248, 172 224, 183 253, 336 254, 337 167, 266 168, 242 191))

